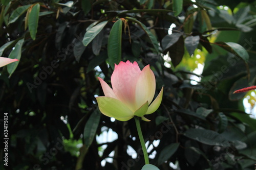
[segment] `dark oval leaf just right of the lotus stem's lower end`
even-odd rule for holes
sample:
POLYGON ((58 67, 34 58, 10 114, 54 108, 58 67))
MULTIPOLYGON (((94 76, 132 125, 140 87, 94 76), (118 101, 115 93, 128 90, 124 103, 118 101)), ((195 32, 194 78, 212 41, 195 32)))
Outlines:
POLYGON ((172 143, 167 145, 159 154, 157 164, 161 165, 164 161, 168 160, 179 148, 180 143, 172 143))

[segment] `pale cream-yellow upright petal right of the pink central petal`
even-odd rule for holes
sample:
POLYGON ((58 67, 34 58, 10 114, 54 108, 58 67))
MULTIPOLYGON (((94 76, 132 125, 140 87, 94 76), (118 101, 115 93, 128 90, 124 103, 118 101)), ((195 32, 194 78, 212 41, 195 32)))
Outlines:
POLYGON ((145 66, 140 72, 136 84, 136 107, 141 107, 146 101, 151 104, 156 92, 156 79, 150 65, 145 66))

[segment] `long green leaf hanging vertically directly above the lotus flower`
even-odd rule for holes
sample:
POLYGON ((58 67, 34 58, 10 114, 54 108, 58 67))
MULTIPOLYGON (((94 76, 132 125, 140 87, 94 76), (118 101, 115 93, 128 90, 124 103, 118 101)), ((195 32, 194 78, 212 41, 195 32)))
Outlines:
POLYGON ((110 66, 112 68, 114 68, 115 63, 118 64, 121 61, 122 23, 123 21, 121 19, 117 20, 110 31, 108 41, 108 56, 110 66))

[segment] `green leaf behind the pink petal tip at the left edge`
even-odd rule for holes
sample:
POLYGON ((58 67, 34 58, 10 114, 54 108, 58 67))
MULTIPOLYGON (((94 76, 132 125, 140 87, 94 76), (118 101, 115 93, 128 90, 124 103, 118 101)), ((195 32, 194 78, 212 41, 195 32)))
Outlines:
POLYGON ((14 58, 18 59, 18 61, 7 65, 7 70, 8 70, 8 73, 10 75, 13 74, 13 72, 15 71, 15 69, 18 66, 18 63, 20 61, 20 57, 22 57, 22 45, 23 45, 23 42, 24 42, 24 39, 20 39, 15 44, 14 49, 9 54, 9 58, 11 58, 11 59, 14 59, 14 58))

